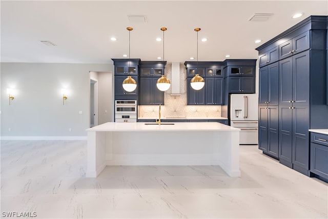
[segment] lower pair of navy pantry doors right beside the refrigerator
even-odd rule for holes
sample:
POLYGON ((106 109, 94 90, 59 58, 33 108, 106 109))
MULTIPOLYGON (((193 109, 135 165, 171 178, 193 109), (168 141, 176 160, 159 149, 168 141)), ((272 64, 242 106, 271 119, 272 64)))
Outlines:
POLYGON ((263 153, 279 157, 279 109, 278 106, 259 105, 258 147, 263 153))

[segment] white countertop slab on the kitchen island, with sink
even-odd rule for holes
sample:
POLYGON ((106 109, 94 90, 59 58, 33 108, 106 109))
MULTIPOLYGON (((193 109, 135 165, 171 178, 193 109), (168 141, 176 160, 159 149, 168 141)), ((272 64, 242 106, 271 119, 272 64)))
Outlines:
MULTIPOLYGON (((220 123, 174 123, 174 125, 145 125, 147 123, 105 123, 86 131, 240 131, 220 123)), ((172 123, 169 123, 172 124, 172 123)))

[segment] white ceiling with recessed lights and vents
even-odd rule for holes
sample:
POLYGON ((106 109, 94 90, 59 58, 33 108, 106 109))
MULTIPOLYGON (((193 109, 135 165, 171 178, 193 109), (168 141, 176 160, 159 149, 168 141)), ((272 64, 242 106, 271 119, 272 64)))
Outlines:
POLYGON ((1 1, 1 62, 112 63, 111 58, 168 62, 257 58, 255 50, 310 15, 328 15, 328 1, 1 1), (296 12, 302 17, 293 19, 296 12), (272 13, 267 21, 249 21, 272 13), (128 15, 145 15, 146 23, 128 15), (117 41, 111 41, 111 37, 117 41), (201 42, 202 37, 208 38, 201 42), (255 44, 255 39, 262 39, 255 44), (56 46, 46 46, 50 41, 56 46))

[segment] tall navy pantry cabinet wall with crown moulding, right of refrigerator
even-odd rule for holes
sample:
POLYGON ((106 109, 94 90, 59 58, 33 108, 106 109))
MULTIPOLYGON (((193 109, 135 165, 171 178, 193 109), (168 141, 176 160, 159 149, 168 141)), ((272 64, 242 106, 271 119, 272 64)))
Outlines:
POLYGON ((310 176, 309 129, 328 128, 327 16, 310 16, 256 50, 259 149, 310 176))

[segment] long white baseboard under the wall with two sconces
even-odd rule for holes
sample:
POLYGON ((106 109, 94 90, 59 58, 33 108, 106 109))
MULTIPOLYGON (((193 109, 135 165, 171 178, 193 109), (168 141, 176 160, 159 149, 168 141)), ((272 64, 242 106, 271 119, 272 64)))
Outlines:
POLYGON ((76 141, 76 140, 87 140, 87 136, 1 136, 0 140, 5 141, 76 141))

